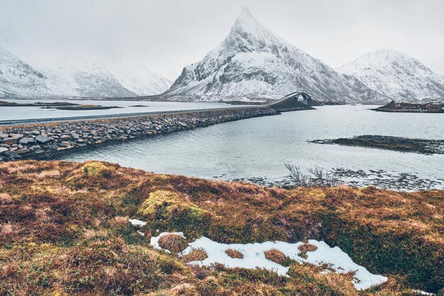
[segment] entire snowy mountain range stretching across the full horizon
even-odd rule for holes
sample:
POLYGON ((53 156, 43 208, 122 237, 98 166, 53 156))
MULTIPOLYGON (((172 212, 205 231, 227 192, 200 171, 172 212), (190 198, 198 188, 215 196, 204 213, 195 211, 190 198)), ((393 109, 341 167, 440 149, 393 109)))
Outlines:
POLYGON ((264 28, 244 8, 216 48, 172 83, 136 58, 30 65, 0 48, 0 97, 279 99, 301 91, 335 102, 418 102, 444 97, 444 76, 396 50, 377 50, 334 70, 264 28))

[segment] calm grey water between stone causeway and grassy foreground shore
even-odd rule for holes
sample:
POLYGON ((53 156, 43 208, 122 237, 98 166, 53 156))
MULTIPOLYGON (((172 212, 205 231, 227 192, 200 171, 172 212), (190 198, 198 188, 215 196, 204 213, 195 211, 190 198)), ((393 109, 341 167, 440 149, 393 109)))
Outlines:
POLYGON ((444 155, 307 142, 367 134, 444 138, 444 114, 370 111, 373 107, 321 106, 244 119, 85 150, 65 159, 106 160, 154 172, 256 182, 285 180, 284 163, 294 163, 303 169, 314 165, 342 168, 345 180, 357 185, 444 188, 444 155))

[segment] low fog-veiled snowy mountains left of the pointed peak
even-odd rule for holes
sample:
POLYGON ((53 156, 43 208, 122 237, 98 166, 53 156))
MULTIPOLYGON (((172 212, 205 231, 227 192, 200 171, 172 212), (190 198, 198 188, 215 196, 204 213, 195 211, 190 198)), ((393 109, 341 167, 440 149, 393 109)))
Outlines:
POLYGON ((0 97, 134 97, 160 94, 171 82, 150 72, 137 60, 70 62, 65 58, 33 67, 0 48, 0 97))

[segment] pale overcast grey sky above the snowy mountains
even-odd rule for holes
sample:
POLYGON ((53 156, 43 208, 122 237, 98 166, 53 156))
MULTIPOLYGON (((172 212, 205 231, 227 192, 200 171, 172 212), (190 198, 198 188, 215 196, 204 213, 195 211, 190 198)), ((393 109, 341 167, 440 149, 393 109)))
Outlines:
POLYGON ((444 75, 442 0, 0 0, 0 45, 35 63, 131 56, 174 79, 225 38, 243 6, 332 67, 392 48, 444 75))

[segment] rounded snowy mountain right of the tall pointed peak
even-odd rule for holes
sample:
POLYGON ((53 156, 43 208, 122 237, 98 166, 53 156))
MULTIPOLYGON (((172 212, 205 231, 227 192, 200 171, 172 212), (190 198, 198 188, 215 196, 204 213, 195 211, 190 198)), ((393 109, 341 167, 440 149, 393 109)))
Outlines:
POLYGON ((444 98, 444 76, 397 50, 366 53, 338 71, 396 100, 417 102, 444 98))

